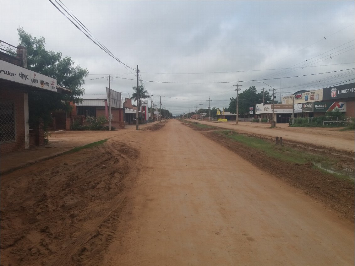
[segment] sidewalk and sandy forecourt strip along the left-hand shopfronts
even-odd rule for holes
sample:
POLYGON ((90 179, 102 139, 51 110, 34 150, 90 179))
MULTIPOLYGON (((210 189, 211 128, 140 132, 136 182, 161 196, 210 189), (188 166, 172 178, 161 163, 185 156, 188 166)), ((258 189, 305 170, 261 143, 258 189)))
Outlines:
MULTIPOLYGON (((152 126, 157 122, 140 124, 139 128, 152 126)), ((125 129, 115 131, 60 131, 50 132, 49 143, 43 146, 33 147, 28 150, 13 151, 1 154, 0 174, 11 172, 36 162, 56 157, 78 146, 84 146, 103 139, 110 139, 116 135, 135 131, 136 126, 126 126, 125 129)))

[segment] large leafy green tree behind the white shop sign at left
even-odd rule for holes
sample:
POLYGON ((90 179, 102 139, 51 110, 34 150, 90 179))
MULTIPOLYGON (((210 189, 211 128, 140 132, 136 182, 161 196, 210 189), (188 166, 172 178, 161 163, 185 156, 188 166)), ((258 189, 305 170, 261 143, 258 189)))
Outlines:
POLYGON ((69 102, 78 103, 84 94, 81 86, 89 74, 86 68, 74 66, 70 56, 62 58, 61 52, 45 50, 44 37, 32 37, 22 27, 17 29, 20 45, 27 49, 27 68, 55 78, 57 85, 68 88, 72 94, 60 94, 45 91, 30 91, 28 94, 29 123, 37 124, 43 119, 44 126, 51 122, 51 112, 70 111, 69 102))

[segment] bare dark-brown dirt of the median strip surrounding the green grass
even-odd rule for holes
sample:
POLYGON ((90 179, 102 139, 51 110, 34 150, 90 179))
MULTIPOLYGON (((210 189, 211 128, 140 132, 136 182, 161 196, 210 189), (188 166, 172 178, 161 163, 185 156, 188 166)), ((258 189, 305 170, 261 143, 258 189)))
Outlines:
MULTIPOLYGON (((185 124, 191 126, 190 124, 185 124)), ((238 154, 243 159, 251 162, 261 170, 273 174, 279 179, 293 185, 295 188, 301 189, 305 194, 312 196, 317 201, 321 201, 330 209, 339 213, 340 216, 354 222, 354 185, 351 185, 344 179, 334 177, 332 174, 322 172, 313 167, 310 162, 308 164, 294 164, 285 162, 267 156, 260 150, 252 149, 247 145, 235 142, 225 135, 220 135, 211 131, 211 128, 201 129, 191 126, 194 130, 200 131, 209 139, 218 142, 218 144, 238 154)), ((251 137, 260 137, 260 135, 246 134, 251 137)), ((263 139, 273 142, 272 139, 263 137, 263 139)), ((303 145, 297 142, 284 142, 289 145, 308 153, 320 153, 324 156, 333 156, 338 154, 342 156, 342 167, 354 167, 354 157, 351 152, 325 149, 316 145, 303 145)))

